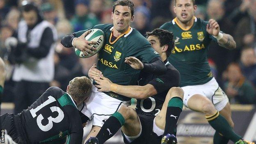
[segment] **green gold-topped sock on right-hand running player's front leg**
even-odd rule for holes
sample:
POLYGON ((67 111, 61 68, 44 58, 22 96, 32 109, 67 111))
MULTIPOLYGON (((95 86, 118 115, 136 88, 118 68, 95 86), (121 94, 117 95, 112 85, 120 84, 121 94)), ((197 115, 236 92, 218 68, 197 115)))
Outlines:
POLYGON ((216 131, 224 135, 224 137, 230 139, 233 142, 237 142, 242 139, 240 135, 237 135, 229 125, 228 121, 222 117, 219 112, 216 112, 212 116, 206 117, 210 126, 212 126, 216 131))

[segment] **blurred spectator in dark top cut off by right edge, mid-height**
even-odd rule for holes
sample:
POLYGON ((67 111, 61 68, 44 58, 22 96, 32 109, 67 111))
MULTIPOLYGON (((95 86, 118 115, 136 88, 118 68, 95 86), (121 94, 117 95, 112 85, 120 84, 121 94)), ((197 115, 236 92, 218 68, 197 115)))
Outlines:
POLYGON ((256 55, 253 48, 243 48, 240 67, 245 78, 256 86, 256 55))

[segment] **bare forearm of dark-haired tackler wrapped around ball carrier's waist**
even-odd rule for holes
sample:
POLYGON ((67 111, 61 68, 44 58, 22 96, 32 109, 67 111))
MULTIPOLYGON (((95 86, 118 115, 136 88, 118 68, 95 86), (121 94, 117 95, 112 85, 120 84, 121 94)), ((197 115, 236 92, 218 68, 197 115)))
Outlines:
POLYGON ((116 85, 116 87, 110 88, 111 91, 121 94, 123 96, 126 96, 128 98, 137 98, 137 99, 145 99, 150 97, 151 95, 149 93, 146 93, 146 89, 144 89, 143 86, 138 85, 116 85))

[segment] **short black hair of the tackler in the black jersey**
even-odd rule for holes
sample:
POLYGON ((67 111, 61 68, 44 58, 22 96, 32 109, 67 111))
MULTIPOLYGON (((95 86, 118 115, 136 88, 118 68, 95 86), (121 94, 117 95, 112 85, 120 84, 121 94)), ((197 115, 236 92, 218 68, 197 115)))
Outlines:
POLYGON ((148 38, 149 36, 155 36, 158 37, 160 41, 160 46, 167 45, 168 49, 166 51, 167 57, 171 55, 171 50, 174 48, 174 36, 172 32, 169 32, 168 30, 162 30, 160 28, 157 28, 153 30, 152 32, 146 32, 146 37, 148 38))

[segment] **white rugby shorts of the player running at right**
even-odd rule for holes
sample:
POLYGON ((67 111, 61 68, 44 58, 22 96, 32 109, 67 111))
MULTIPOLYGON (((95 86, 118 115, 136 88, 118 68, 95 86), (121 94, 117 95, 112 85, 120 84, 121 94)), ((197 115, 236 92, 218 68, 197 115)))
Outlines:
POLYGON ((217 111, 222 110, 229 102, 229 98, 219 87, 219 84, 217 83, 215 78, 211 79, 209 82, 206 82, 203 85, 192 85, 181 88, 184 91, 183 103, 185 104, 185 106, 187 106, 187 101, 194 94, 201 94, 210 99, 213 102, 217 111))

